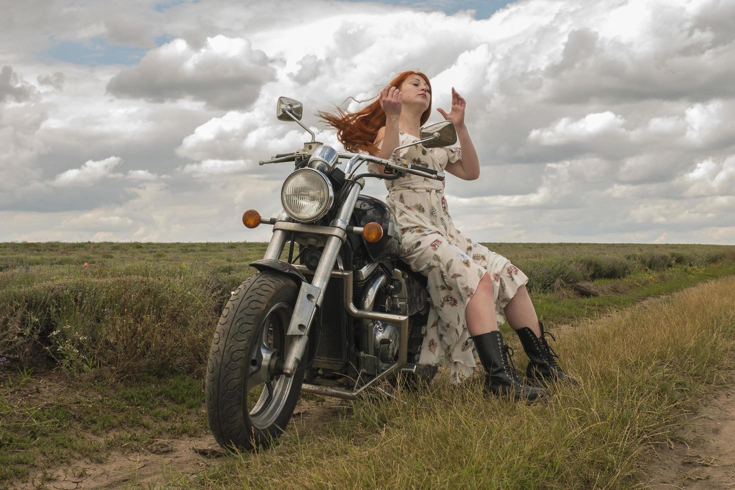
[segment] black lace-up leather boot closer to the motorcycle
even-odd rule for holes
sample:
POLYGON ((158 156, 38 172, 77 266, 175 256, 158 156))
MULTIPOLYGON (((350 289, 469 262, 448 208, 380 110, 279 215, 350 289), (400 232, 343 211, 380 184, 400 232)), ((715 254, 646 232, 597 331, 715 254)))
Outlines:
POLYGON ((485 392, 510 394, 515 400, 547 400, 546 390, 520 381, 511 364, 512 349, 503 343, 499 331, 473 336, 482 367, 487 371, 485 392), (510 353, 509 353, 510 350, 510 353))

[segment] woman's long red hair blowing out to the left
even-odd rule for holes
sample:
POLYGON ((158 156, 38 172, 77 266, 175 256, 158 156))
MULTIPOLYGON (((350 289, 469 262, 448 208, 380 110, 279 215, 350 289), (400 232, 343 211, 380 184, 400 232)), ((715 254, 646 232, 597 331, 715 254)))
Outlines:
MULTIPOLYGON (((431 82, 429 77, 420 71, 404 71, 396 76, 390 82, 391 87, 399 88, 409 78, 409 76, 418 75, 429 85, 429 93, 431 92, 431 82)), ((382 90, 382 89, 381 89, 382 90)), ((371 155, 378 154, 378 147, 375 139, 378 130, 385 126, 385 112, 380 107, 380 93, 376 96, 376 100, 367 107, 363 107, 357 112, 346 112, 337 107, 337 113, 319 112, 320 117, 326 123, 337 129, 337 139, 345 146, 345 150, 351 153, 368 153, 371 155)), ((421 126, 423 126, 431 115, 431 98, 429 98, 429 108, 421 115, 421 126)))

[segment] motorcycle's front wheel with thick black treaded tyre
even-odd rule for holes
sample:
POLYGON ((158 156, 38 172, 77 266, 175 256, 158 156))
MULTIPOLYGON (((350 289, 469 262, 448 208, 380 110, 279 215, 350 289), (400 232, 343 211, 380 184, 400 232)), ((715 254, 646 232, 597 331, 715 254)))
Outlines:
POLYGON ((304 382, 276 374, 298 287, 265 271, 249 278, 226 303, 207 364, 209 427, 222 447, 251 450, 270 444, 289 422, 304 382))

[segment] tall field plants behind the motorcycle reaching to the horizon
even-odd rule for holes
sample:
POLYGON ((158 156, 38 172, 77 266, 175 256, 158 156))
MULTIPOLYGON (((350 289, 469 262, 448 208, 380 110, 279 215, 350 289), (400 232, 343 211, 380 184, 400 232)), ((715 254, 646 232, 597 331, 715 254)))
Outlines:
MULTIPOLYGON (((641 270, 735 262, 720 245, 490 244, 534 292, 641 270)), ((0 244, 0 358, 69 370, 204 366, 229 292, 262 243, 0 244), (84 264, 87 264, 86 267, 84 264)))

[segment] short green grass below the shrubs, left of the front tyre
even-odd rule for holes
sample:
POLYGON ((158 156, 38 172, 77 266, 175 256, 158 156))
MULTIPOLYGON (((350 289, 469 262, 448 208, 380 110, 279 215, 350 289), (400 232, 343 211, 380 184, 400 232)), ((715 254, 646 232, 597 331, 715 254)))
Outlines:
POLYGON ((139 450, 153 439, 207 428, 204 385, 189 375, 148 373, 85 381, 11 375, 0 393, 0 484, 80 457, 139 450))

